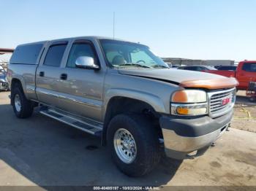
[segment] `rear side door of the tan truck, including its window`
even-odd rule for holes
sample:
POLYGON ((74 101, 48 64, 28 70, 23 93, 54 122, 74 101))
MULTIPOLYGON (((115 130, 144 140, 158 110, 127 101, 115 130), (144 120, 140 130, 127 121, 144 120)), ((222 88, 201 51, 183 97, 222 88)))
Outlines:
POLYGON ((50 106, 59 106, 58 81, 61 77, 61 61, 68 42, 53 42, 44 59, 39 63, 36 75, 37 98, 40 102, 50 106))

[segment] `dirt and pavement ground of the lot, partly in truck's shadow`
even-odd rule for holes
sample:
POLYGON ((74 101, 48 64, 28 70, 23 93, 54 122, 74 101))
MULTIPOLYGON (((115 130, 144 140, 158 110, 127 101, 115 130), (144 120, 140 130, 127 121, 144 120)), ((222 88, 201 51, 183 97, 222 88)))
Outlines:
POLYGON ((216 147, 194 160, 162 160, 151 174, 135 179, 118 171, 99 139, 36 112, 30 119, 17 119, 7 95, 0 93, 0 186, 256 186, 256 104, 242 96, 233 128, 216 147))

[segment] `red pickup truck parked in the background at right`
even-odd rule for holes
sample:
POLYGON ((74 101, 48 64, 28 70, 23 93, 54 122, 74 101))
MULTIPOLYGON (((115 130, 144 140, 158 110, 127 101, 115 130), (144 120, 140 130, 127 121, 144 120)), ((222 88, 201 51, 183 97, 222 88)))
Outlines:
POLYGON ((236 71, 227 70, 207 70, 211 74, 219 74, 225 77, 236 77, 239 85, 237 90, 247 90, 249 82, 256 82, 256 61, 241 61, 238 63, 236 71))

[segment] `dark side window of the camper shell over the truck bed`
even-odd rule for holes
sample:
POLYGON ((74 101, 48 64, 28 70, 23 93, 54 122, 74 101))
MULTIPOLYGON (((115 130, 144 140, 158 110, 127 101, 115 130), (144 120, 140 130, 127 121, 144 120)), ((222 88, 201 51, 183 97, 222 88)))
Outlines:
POLYGON ((43 44, 29 44, 18 46, 12 54, 10 63, 31 64, 37 63, 37 58, 42 50, 43 44))

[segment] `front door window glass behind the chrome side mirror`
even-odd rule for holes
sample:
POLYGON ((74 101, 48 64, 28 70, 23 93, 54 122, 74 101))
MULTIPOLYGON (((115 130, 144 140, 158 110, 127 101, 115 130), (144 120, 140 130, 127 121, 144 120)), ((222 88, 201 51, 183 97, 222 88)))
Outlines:
POLYGON ((75 68, 75 61, 80 56, 89 56, 94 58, 94 61, 97 61, 97 57, 94 53, 94 50, 91 44, 83 42, 83 43, 74 43, 69 52, 69 59, 67 61, 67 67, 75 68))

